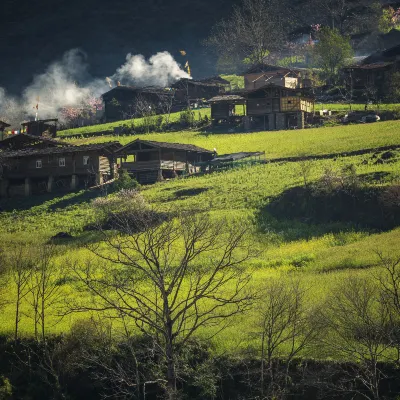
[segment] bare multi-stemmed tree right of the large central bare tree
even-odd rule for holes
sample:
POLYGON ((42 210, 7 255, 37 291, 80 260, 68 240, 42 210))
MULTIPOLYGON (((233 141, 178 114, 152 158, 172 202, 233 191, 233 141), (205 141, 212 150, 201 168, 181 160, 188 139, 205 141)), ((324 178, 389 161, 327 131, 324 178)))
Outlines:
POLYGON ((261 290, 258 304, 258 334, 261 342, 261 398, 268 373, 269 398, 285 392, 289 383, 289 367, 293 359, 306 349, 319 333, 305 304, 306 291, 298 281, 273 279, 261 290), (280 371, 279 364, 285 369, 280 371), (275 363, 275 365, 274 365, 275 363))

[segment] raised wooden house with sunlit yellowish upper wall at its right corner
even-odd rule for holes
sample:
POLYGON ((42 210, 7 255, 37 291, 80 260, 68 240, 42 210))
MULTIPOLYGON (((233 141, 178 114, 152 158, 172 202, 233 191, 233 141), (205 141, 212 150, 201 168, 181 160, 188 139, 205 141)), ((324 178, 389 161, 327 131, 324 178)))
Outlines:
POLYGON ((303 129, 305 119, 314 112, 314 99, 301 89, 264 85, 248 91, 246 115, 265 130, 303 129))

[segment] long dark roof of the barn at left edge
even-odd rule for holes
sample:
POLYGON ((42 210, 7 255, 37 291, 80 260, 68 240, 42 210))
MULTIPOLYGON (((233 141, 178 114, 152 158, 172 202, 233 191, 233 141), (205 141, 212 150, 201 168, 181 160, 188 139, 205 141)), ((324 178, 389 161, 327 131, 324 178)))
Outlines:
POLYGON ((66 153, 80 153, 85 151, 99 151, 103 154, 110 154, 117 151, 122 145, 119 142, 106 142, 87 144, 81 146, 68 145, 66 147, 47 147, 42 149, 26 148, 16 151, 2 152, 4 158, 13 157, 29 157, 29 156, 45 156, 51 154, 66 154, 66 153))

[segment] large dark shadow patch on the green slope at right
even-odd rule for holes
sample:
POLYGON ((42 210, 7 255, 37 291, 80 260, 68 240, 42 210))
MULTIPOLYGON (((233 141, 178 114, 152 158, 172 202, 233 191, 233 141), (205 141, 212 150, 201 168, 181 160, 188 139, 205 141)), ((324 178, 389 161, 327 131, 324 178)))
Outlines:
POLYGON ((400 206, 385 202, 388 188, 366 186, 318 192, 294 187, 258 210, 257 227, 284 241, 309 240, 328 233, 392 230, 400 225, 400 206))

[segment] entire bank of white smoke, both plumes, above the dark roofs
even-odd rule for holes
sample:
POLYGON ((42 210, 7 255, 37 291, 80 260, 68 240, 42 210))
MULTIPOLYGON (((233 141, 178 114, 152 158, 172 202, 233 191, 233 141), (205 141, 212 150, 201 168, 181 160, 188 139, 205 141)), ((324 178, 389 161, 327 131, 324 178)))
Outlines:
POLYGON ((33 78, 19 98, 8 96, 0 87, 0 119, 18 128, 22 120, 35 117, 38 104, 39 118, 60 118, 65 107, 79 107, 89 97, 100 97, 116 86, 167 87, 180 78, 190 76, 168 52, 160 52, 147 61, 142 55, 128 54, 123 64, 110 78, 96 79, 89 75, 86 55, 73 49, 61 60, 52 63, 42 74, 33 78))

